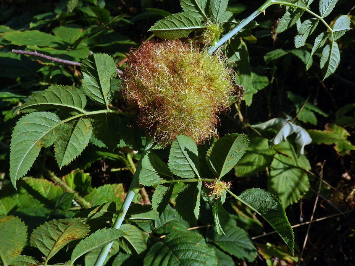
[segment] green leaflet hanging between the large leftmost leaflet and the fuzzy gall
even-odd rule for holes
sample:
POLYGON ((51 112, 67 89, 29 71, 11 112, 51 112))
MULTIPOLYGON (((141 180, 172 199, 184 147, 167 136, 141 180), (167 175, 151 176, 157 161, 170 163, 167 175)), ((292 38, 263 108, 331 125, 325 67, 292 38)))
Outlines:
POLYGON ((80 117, 63 123, 54 142, 55 159, 59 168, 69 164, 82 153, 92 134, 91 121, 80 117))

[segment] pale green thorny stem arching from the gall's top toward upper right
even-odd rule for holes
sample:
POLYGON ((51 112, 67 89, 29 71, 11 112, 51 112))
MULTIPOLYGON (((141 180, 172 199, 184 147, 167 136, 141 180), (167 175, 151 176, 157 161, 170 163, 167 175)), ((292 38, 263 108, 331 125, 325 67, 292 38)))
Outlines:
POLYGON ((254 18, 256 18, 260 13, 264 13, 265 9, 271 5, 285 5, 285 6, 291 6, 295 7, 301 10, 304 10, 308 13, 310 13, 312 16, 318 18, 322 23, 329 29, 332 35, 333 39, 333 29, 327 24, 324 19, 317 15, 316 13, 312 12, 311 10, 307 9, 307 7, 299 6, 292 4, 289 0, 281 0, 281 1, 275 1, 275 0, 268 0, 266 1, 261 7, 259 7, 257 10, 255 10, 249 17, 245 18, 242 20, 235 28, 233 28, 230 32, 226 33, 218 43, 211 45, 211 47, 208 49, 208 52, 212 54, 219 46, 223 45, 226 41, 228 41, 230 38, 232 38, 235 34, 237 34, 242 28, 244 28, 247 24, 249 24, 254 18))

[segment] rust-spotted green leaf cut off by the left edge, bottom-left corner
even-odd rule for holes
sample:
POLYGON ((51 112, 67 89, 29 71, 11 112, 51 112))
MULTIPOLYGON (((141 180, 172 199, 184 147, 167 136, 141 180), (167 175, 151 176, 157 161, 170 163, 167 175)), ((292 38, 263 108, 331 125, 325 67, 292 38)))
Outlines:
MULTIPOLYGON (((9 265, 27 242, 27 226, 18 217, 0 216, 0 261, 9 265)), ((13 264, 11 264, 13 265, 13 264)))

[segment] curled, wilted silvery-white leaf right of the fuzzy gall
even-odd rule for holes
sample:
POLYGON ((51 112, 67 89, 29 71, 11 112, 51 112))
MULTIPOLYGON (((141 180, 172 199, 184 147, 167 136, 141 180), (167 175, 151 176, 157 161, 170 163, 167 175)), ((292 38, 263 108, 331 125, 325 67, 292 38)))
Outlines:
POLYGON ((297 136, 295 142, 297 146, 297 153, 299 155, 303 154, 304 147, 312 142, 310 135, 304 128, 297 126, 283 118, 273 118, 269 121, 253 125, 251 127, 260 130, 268 129, 271 127, 276 128, 278 130, 278 133, 271 140, 271 143, 273 145, 283 142, 289 135, 296 133, 297 136))

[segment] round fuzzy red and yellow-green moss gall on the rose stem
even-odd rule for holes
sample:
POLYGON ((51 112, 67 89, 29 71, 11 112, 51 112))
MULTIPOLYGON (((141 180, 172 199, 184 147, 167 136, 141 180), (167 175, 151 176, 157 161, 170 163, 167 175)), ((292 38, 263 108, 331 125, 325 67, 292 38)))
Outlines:
POLYGON ((222 56, 179 40, 146 42, 126 63, 122 96, 155 141, 184 134, 201 143, 216 134, 217 113, 228 109, 233 88, 222 56))

